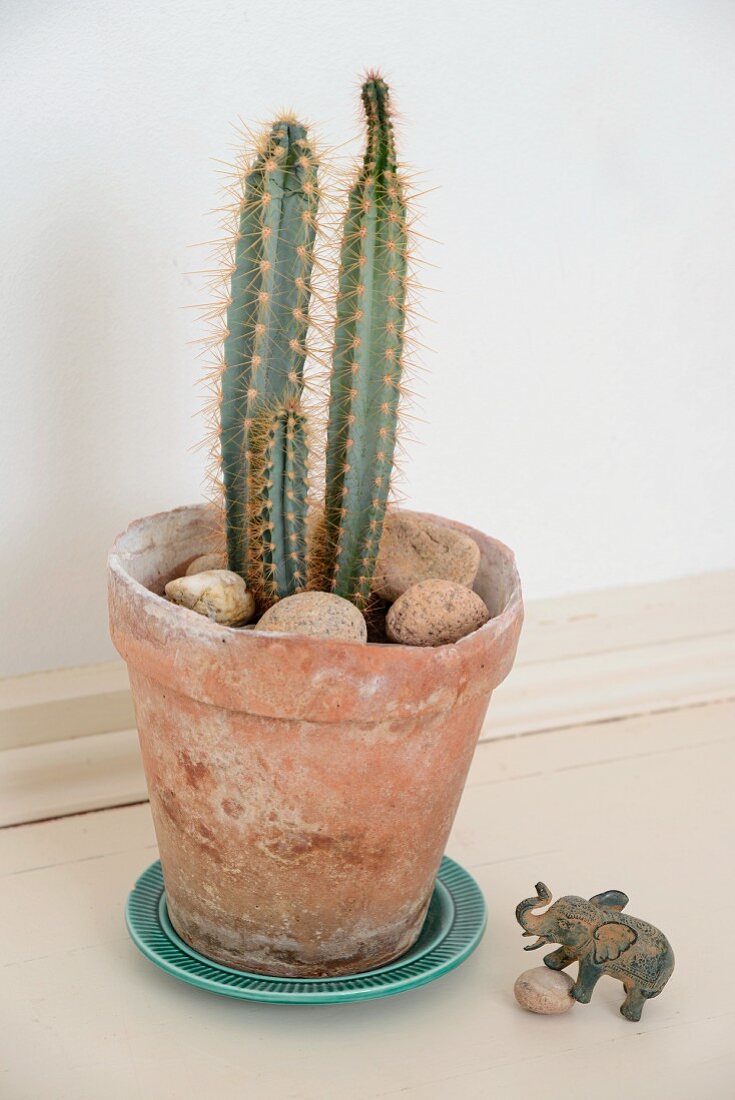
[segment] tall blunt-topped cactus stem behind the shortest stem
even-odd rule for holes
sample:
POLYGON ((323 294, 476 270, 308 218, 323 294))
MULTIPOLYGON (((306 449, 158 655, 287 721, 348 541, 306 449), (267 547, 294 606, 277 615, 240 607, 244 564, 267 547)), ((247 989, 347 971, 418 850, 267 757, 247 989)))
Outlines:
MULTIPOLYGON (((249 471, 248 435, 262 413, 298 400, 303 391, 318 202, 306 128, 278 119, 242 179, 220 378, 228 561, 245 579, 260 568, 252 564, 260 550, 249 527, 262 514, 250 498, 257 479, 249 471)), ((279 552, 263 551, 265 573, 277 578, 281 592, 293 571, 285 559, 274 564, 279 552)))

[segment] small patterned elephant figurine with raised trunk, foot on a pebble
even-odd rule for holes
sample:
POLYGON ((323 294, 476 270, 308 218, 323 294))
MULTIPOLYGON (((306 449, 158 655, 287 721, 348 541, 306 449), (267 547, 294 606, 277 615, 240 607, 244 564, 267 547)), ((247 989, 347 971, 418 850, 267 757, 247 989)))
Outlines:
POLYGON ((663 933, 624 914, 628 899, 619 890, 606 890, 589 901, 573 895, 559 898, 545 913, 534 913, 550 901, 549 888, 537 882, 536 897, 517 906, 516 920, 524 936, 538 936, 525 950, 561 944, 544 961, 552 970, 579 961, 571 989, 574 1000, 589 1004, 597 980, 607 974, 625 988, 621 1005, 625 1019, 640 1020, 645 1002, 658 997, 673 970, 673 952, 663 933))

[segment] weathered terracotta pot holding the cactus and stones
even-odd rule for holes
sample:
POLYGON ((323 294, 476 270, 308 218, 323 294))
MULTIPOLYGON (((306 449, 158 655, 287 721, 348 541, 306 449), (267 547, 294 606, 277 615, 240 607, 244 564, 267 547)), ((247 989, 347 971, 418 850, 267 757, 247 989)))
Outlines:
POLYGON ((163 586, 206 549, 210 522, 204 506, 138 520, 109 559, 171 920, 237 969, 381 966, 420 932, 513 663, 513 554, 450 524, 481 548, 475 588, 495 617, 453 646, 366 646, 221 627, 169 604, 163 586))

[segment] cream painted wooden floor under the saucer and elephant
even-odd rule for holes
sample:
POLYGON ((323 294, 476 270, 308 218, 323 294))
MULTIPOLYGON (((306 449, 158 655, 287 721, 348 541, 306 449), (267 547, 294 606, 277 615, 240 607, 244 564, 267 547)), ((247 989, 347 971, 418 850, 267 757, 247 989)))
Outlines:
POLYGON ((735 1097, 735 704, 479 746, 449 855, 480 881, 478 952, 384 1001, 272 1007, 179 985, 128 939, 156 857, 147 805, 0 831, 2 1100, 735 1097), (560 1018, 517 1008, 516 902, 618 888, 677 969, 640 1024, 603 979, 560 1018))

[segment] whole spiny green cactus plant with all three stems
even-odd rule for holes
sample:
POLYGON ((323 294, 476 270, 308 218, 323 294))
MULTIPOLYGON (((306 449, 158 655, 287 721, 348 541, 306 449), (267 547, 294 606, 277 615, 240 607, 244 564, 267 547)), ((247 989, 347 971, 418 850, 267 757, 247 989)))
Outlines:
MULTIPOLYGON (((408 230, 388 88, 380 76, 368 76, 362 102, 366 148, 342 227, 325 509, 316 546, 309 547, 308 580, 310 587, 365 608, 396 449, 408 230)), ((318 167, 305 127, 278 119, 239 173, 228 252, 217 375, 228 562, 262 607, 306 582, 308 449, 301 402, 307 330, 318 331, 309 309, 318 167)))

